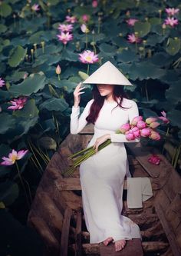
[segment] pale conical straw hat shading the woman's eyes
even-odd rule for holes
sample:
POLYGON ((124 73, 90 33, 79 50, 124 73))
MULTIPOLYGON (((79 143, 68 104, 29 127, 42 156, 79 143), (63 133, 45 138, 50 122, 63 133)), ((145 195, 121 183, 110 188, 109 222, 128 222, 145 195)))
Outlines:
POLYGON ((131 85, 130 81, 111 63, 105 62, 83 84, 131 85))

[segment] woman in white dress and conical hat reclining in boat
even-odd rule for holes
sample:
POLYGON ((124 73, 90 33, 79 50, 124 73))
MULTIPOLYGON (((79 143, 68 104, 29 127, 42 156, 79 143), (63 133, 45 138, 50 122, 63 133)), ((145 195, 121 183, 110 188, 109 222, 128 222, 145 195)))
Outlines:
POLYGON ((83 83, 94 84, 93 99, 88 101, 79 118, 84 87, 81 83, 77 85, 71 113, 71 134, 77 134, 87 123, 93 123, 94 136, 87 147, 94 145, 96 149, 96 154, 80 165, 84 217, 90 243, 103 241, 107 245, 113 241, 115 251, 120 251, 126 240, 141 239, 141 235, 137 224, 121 215, 123 181, 128 174, 123 142, 131 141, 115 131, 138 116, 138 108, 136 102, 126 98, 123 86, 120 86, 131 85, 130 81, 110 62, 98 68, 83 83), (99 145, 107 139, 112 143, 98 151, 99 145))

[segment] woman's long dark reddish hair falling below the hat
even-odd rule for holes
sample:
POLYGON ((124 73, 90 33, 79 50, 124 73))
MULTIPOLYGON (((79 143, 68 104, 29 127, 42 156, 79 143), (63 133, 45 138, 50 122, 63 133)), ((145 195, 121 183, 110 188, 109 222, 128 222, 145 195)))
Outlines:
MULTIPOLYGON (((91 105, 90 113, 87 116, 86 120, 88 123, 94 124, 95 121, 97 120, 100 109, 104 105, 104 100, 105 100, 106 96, 100 95, 97 85, 93 85, 92 94, 93 94, 94 102, 91 105)), ((121 103, 123 101, 123 98, 128 98, 128 97, 127 97, 127 94, 123 91, 122 85, 114 86, 113 98, 114 98, 114 101, 117 101, 117 106, 119 106, 120 108, 124 108, 121 105, 121 103)), ((117 106, 115 108, 117 108, 117 106)))

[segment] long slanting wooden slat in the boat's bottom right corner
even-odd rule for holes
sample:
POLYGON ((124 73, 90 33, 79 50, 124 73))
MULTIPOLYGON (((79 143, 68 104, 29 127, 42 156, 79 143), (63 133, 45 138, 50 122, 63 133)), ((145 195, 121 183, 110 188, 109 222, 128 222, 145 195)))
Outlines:
POLYGON ((179 248, 179 244, 176 243, 176 236, 173 233, 173 230, 170 227, 168 221, 166 221, 166 217, 165 217, 163 208, 161 207, 159 201, 155 202, 155 207, 156 207, 156 213, 160 217, 160 222, 162 223, 164 231, 166 232, 166 236, 169 240, 169 244, 170 244, 170 247, 172 248, 174 256, 180 256, 181 250, 179 248))

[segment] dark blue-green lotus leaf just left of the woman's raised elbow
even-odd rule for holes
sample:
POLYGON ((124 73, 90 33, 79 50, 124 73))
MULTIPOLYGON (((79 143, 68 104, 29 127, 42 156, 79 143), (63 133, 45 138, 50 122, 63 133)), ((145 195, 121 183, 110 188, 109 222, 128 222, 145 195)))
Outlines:
POLYGON ((49 98, 40 105, 40 109, 43 108, 46 108, 49 111, 64 111, 68 108, 68 104, 64 98, 49 98))

